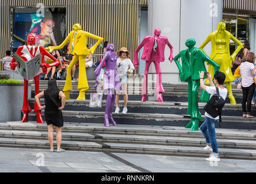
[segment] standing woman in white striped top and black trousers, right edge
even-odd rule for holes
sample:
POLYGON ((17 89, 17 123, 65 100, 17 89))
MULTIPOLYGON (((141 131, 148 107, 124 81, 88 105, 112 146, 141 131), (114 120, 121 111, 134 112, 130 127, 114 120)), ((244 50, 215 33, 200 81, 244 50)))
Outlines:
POLYGON ((254 83, 254 61, 255 55, 253 52, 250 52, 244 58, 245 62, 240 65, 240 74, 242 76, 242 90, 243 90, 243 100, 242 100, 242 108, 243 108, 243 117, 254 117, 251 116, 251 99, 253 98, 253 94, 255 91, 255 83, 254 83), (247 102, 247 106, 246 106, 247 102))

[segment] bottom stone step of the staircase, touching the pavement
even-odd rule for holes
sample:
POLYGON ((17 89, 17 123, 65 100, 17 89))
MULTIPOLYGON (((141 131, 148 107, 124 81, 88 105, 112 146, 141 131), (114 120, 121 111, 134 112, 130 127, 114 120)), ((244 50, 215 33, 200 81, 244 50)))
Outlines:
MULTIPOLYGON (((54 146, 56 147, 54 141, 54 146)), ((48 140, 32 139, 12 139, 0 138, 1 147, 18 148, 40 148, 49 149, 48 140)), ((205 151, 202 147, 184 147, 172 145, 147 145, 147 144, 128 144, 128 143, 99 143, 85 141, 62 141, 61 147, 65 150, 77 151, 107 151, 120 153, 136 154, 157 154, 157 155, 176 155, 176 156, 198 156, 209 157, 210 151, 205 151)), ((227 159, 251 159, 256 160, 256 150, 242 150, 219 148, 221 158, 227 159)))

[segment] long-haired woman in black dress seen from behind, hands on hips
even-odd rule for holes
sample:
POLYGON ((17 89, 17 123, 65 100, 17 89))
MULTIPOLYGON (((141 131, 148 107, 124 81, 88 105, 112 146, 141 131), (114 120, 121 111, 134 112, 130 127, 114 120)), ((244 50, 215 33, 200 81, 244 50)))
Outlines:
POLYGON ((57 152, 65 151, 61 149, 61 127, 63 127, 61 110, 64 109, 66 97, 64 93, 58 89, 57 81, 50 79, 48 81, 48 89, 36 95, 35 100, 41 110, 45 109, 44 117, 48 127, 48 139, 51 146, 50 151, 55 151, 53 148, 53 126, 55 126, 56 130, 57 152), (44 106, 40 105, 39 98, 41 97, 44 97, 44 106))

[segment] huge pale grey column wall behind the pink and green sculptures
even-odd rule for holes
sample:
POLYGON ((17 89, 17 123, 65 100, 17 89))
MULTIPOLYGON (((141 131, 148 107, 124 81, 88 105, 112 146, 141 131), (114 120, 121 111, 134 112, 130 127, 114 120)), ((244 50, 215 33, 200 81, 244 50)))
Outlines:
MULTIPOLYGON (((217 29, 218 22, 222 21, 222 0, 149 0, 149 34, 154 33, 155 28, 161 29, 161 35, 169 39, 173 45, 173 56, 186 49, 185 40, 193 38, 196 47, 199 47, 208 34, 217 29), (214 3, 215 14, 211 14, 214 3), (214 15, 214 16, 212 16, 214 15)), ((210 54, 210 44, 206 46, 207 54, 210 54)), ((165 49, 165 62, 161 63, 162 81, 179 82, 179 71, 175 62, 168 60, 169 48, 165 49)), ((154 73, 154 66, 151 65, 154 73)))

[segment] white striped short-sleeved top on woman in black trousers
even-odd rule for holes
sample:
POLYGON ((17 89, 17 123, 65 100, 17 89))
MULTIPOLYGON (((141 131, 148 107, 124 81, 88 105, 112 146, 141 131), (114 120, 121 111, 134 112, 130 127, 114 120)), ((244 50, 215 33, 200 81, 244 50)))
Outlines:
POLYGON ((249 87, 254 83, 254 76, 251 75, 251 70, 255 68, 253 63, 243 62, 240 65, 240 75, 242 76, 242 86, 249 87))

